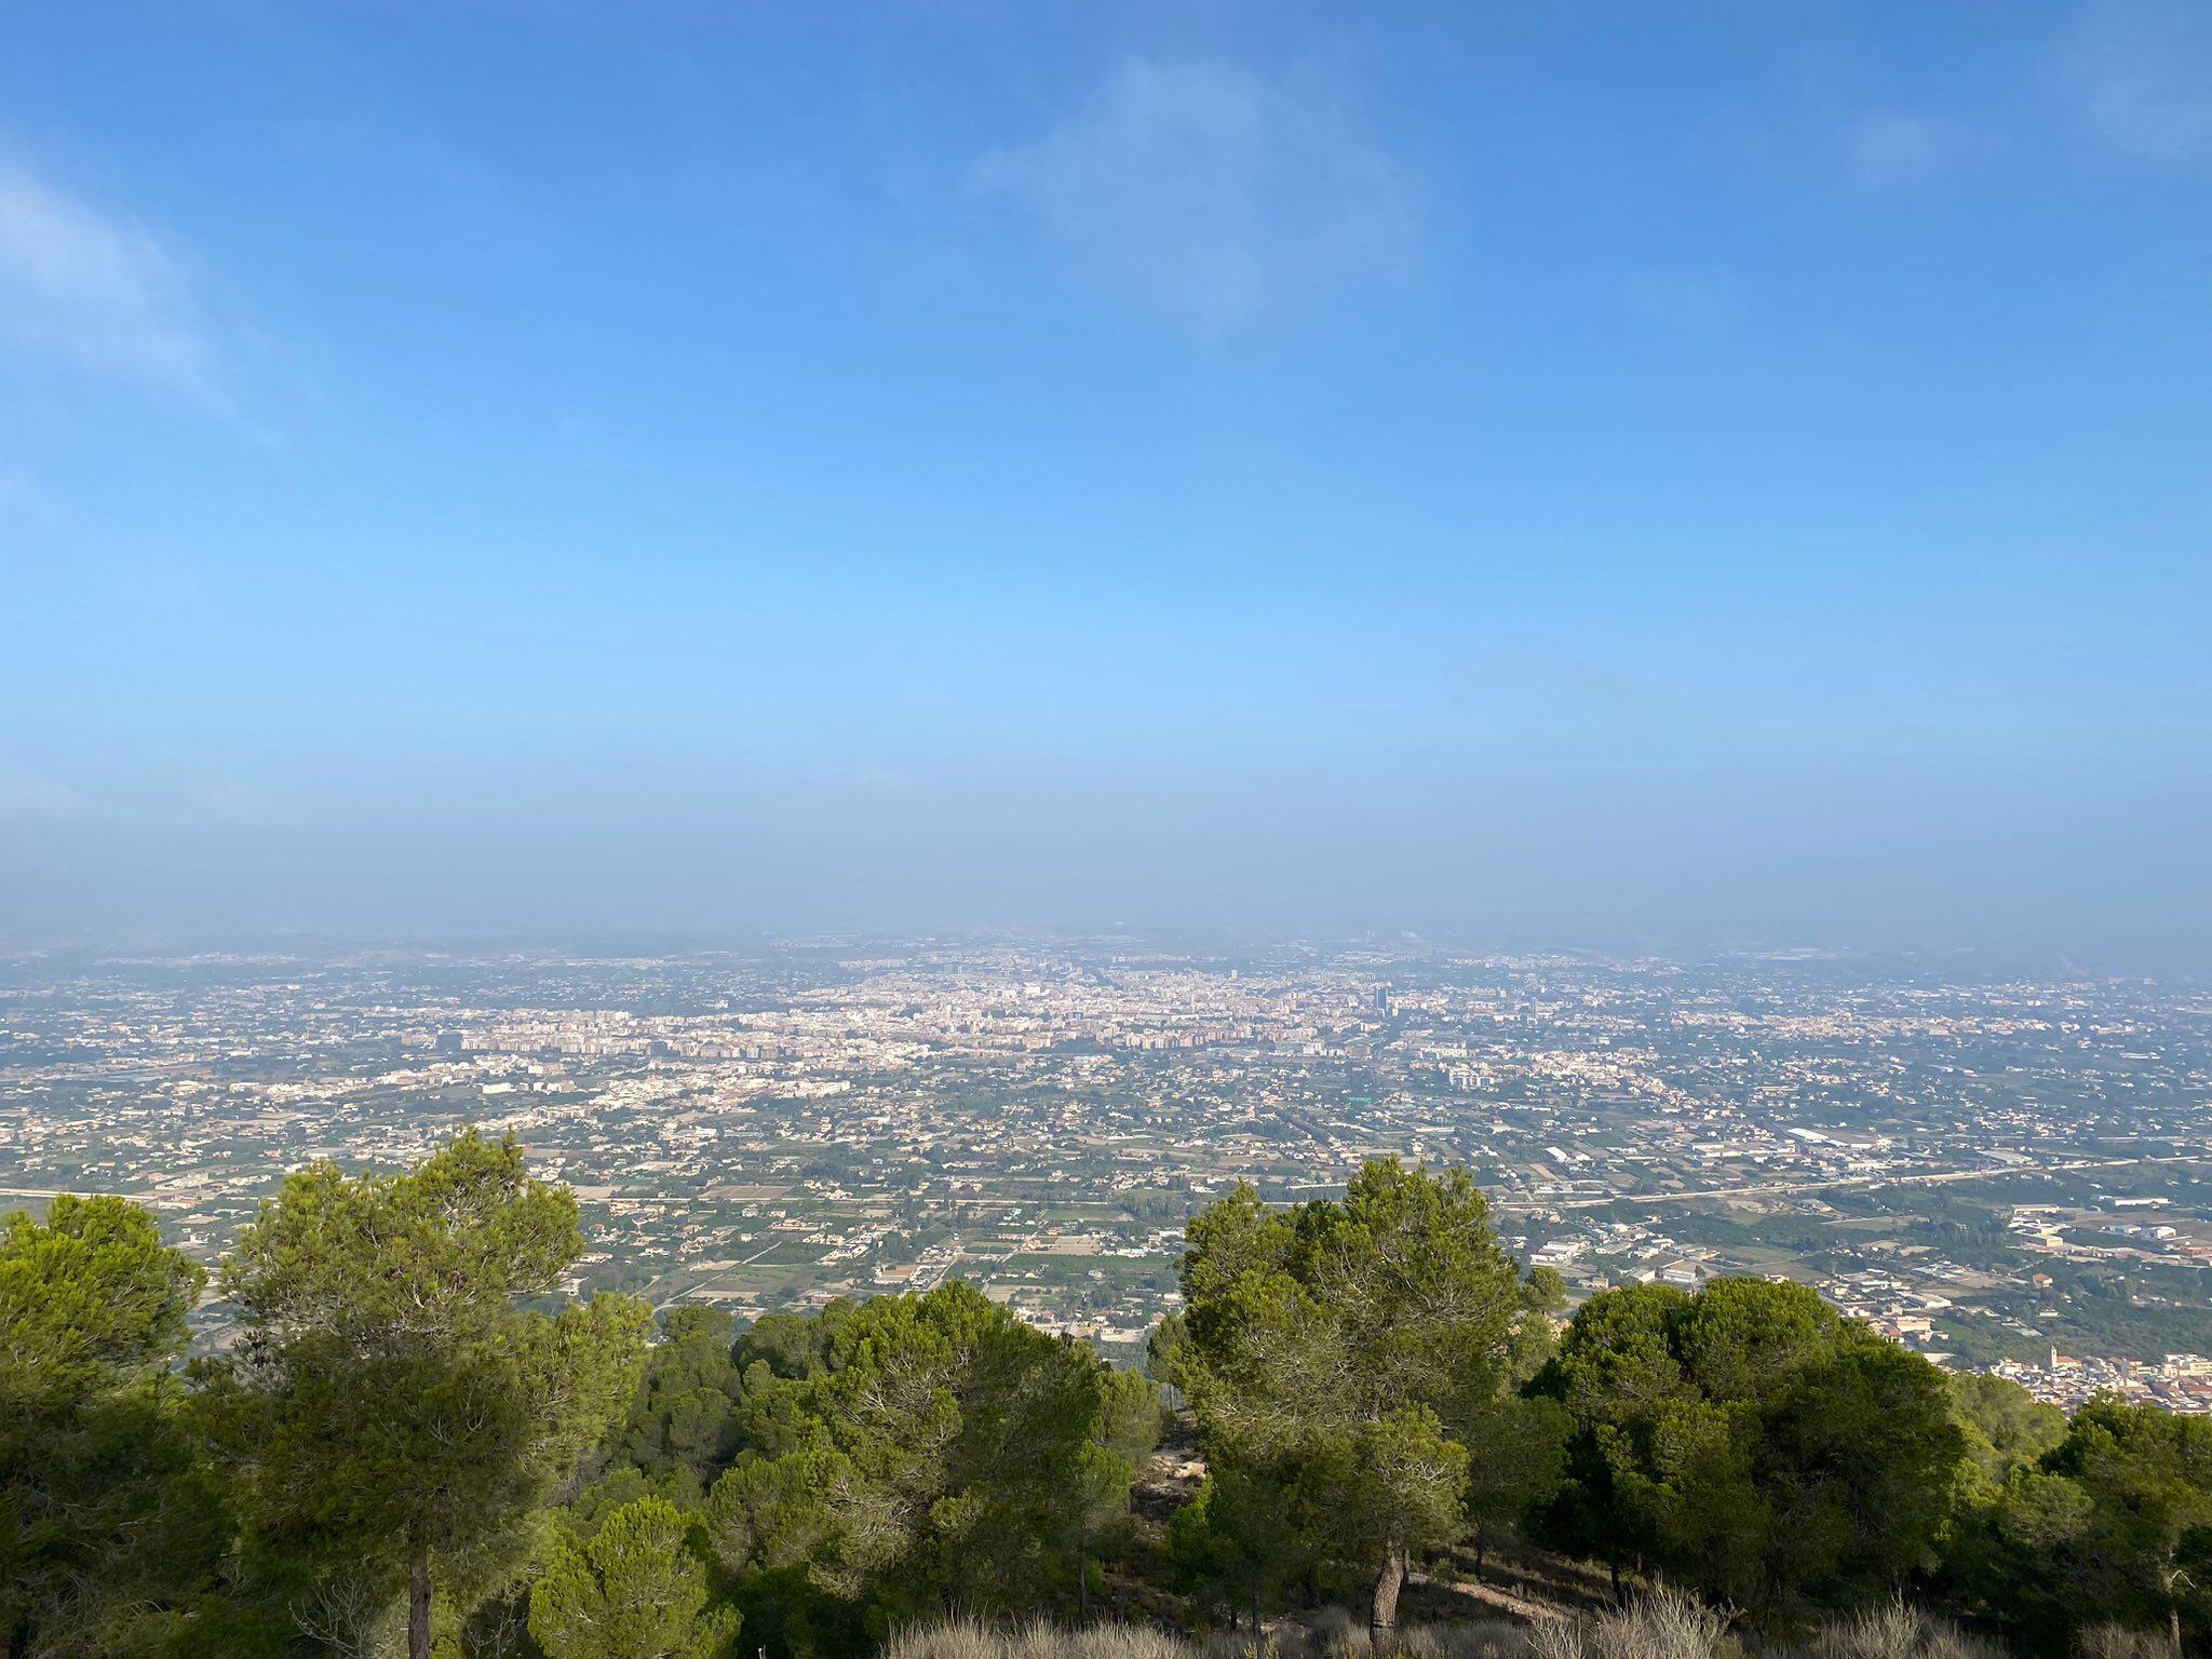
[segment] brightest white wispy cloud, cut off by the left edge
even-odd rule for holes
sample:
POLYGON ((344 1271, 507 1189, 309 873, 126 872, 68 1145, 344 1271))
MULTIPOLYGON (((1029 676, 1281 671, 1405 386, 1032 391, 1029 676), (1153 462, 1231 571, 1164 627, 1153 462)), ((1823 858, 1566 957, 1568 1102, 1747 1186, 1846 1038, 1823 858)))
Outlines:
POLYGON ((0 159, 0 338, 226 405, 177 254, 0 159))

